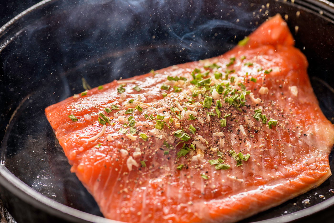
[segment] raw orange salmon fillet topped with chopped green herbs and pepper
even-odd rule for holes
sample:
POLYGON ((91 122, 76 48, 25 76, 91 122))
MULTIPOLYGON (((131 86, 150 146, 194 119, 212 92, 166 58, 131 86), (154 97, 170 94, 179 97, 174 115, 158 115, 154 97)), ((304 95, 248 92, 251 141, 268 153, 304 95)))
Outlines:
POLYGON ((113 81, 45 114, 106 218, 236 222, 323 183, 334 127, 278 15, 215 58, 113 81))

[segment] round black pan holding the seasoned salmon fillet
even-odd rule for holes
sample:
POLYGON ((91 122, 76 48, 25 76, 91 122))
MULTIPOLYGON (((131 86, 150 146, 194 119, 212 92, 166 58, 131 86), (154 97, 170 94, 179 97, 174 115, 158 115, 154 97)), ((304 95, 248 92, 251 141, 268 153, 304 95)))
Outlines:
MULTIPOLYGON (((222 54, 277 13, 306 54, 314 91, 333 121, 329 2, 45 0, 16 16, 0 29, 0 195, 9 212, 19 223, 115 222, 102 218, 70 173, 44 108, 83 91, 82 77, 96 87, 222 54)), ((333 180, 242 222, 332 222, 333 180)))

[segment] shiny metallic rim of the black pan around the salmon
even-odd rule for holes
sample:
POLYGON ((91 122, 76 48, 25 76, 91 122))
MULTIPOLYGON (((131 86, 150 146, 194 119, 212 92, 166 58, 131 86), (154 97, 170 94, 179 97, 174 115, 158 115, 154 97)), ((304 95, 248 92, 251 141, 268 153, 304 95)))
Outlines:
MULTIPOLYGON (((38 2, 37 4, 29 7, 24 10, 20 14, 16 15, 2 27, 0 27, 0 38, 8 31, 12 25, 15 24, 19 19, 28 15, 29 13, 42 8, 50 3, 57 2, 59 0, 43 0, 38 2)), ((280 1, 280 0, 276 0, 280 1)), ((314 12, 320 12, 319 9, 323 9, 323 14, 319 14, 319 16, 324 16, 327 19, 332 20, 331 22, 334 24, 334 3, 327 0, 290 0, 291 2, 287 2, 284 0, 282 2, 288 3, 298 3, 298 5, 307 7, 307 9, 311 9, 314 12)), ((14 38, 13 38, 14 39, 14 38)), ((5 48, 9 43, 6 42, 5 45, 0 47, 0 52, 5 48)), ((17 108, 18 109, 18 108, 17 108)), ((14 112, 15 114, 15 112, 14 112)), ((100 216, 96 216, 93 214, 89 214, 83 211, 79 211, 77 209, 68 207, 61 203, 58 203, 39 192, 33 190, 31 187, 23 183, 14 174, 12 174, 6 167, 1 163, 0 160, 0 186, 4 187, 10 193, 12 193, 15 197, 21 199, 29 205, 32 205, 34 208, 38 210, 42 210, 45 213, 48 213, 51 216, 59 217, 60 219, 67 220, 69 222, 77 222, 77 223, 121 223, 120 221, 106 219, 100 216)), ((319 204, 308 207, 304 210, 300 210, 291 214, 287 214, 284 216, 279 216, 271 219, 266 219, 262 221, 257 221, 253 223, 289 223, 294 222, 296 220, 301 220, 313 214, 319 213, 323 210, 328 209, 329 207, 334 206, 334 197, 326 199, 319 204)))

